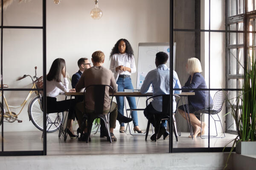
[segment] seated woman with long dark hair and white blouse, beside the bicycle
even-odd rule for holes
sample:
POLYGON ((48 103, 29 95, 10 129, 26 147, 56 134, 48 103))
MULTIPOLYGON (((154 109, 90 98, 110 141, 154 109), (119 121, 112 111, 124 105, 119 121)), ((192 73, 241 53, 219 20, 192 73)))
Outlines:
POLYGON ((47 74, 47 111, 69 111, 67 120, 67 133, 71 139, 76 139, 72 128, 73 119, 75 119, 75 105, 76 99, 68 99, 57 101, 56 96, 61 92, 76 92, 75 89, 68 89, 68 80, 66 76, 66 63, 62 58, 57 58, 52 62, 49 73, 47 74), (64 82, 61 82, 61 75, 64 82))

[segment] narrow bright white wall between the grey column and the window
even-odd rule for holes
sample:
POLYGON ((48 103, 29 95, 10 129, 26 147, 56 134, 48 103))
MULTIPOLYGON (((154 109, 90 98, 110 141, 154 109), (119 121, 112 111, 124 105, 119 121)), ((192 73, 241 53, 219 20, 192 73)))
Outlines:
MULTIPOLYGON (((209 1, 201 0, 201 28, 209 29, 209 1)), ((211 1, 211 30, 225 30, 225 1, 211 1)), ((201 33, 201 63, 203 76, 207 86, 209 86, 209 33, 201 33)), ((225 88, 225 33, 210 33, 210 88, 225 88)), ((211 91, 213 98, 216 91, 211 91)), ((219 113, 222 126, 225 130, 225 103, 221 113, 219 113)), ((216 116, 214 116, 216 118, 216 116)), ((208 126, 208 115, 204 117, 208 126)), ((218 132, 222 132, 219 122, 216 123, 218 132)), ((211 133, 215 132, 214 122, 211 122, 211 133)))

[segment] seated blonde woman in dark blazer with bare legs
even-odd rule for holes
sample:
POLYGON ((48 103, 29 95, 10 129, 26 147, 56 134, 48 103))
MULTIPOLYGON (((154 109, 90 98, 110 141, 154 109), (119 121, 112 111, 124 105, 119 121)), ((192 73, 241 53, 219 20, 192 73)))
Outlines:
MULTIPOLYGON (((193 127, 193 136, 200 136, 201 133, 201 121, 195 116, 194 112, 204 109, 212 108, 212 98, 209 96, 208 91, 192 90, 196 88, 207 88, 204 77, 201 75, 202 67, 200 61, 193 57, 189 58, 186 63, 186 71, 190 74, 189 79, 185 85, 181 88, 182 92, 195 92, 195 95, 188 96, 188 108, 190 121, 193 127), (210 103, 209 103, 210 97, 210 103)), ((186 105, 181 105, 178 108, 178 112, 186 119, 186 113, 188 113, 186 105)), ((204 134, 205 122, 202 122, 202 135, 204 134)), ((191 136, 189 136, 191 138, 191 136)))

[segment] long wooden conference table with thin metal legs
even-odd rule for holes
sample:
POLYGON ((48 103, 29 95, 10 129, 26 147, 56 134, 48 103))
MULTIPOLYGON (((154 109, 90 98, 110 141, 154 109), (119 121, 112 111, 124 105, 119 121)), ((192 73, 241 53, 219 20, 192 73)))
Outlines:
MULTIPOLYGON (((84 92, 65 92, 64 95, 66 96, 81 96, 81 95, 84 95, 84 92)), ((195 92, 181 92, 181 94, 174 94, 176 96, 180 96, 180 99, 184 105, 186 105, 186 108, 187 110, 189 111, 189 107, 188 107, 188 96, 191 96, 191 95, 195 95, 195 92), (185 102, 183 102, 183 99, 181 97, 184 97, 185 98, 185 102)), ((152 92, 149 92, 149 93, 145 93, 145 94, 141 94, 139 91, 124 91, 124 92, 116 92, 114 93, 114 96, 133 96, 133 97, 150 97, 150 96, 153 96, 153 93, 152 92)), ((138 107, 138 104, 139 104, 139 100, 137 102, 137 107, 138 107)), ((126 116, 127 117, 130 117, 131 116, 131 111, 143 111, 145 108, 137 108, 137 109, 127 109, 126 108, 126 102, 125 102, 125 110, 126 110, 126 116), (130 115, 128 115, 128 111, 130 111, 130 115)), ((186 109, 185 110, 185 113, 186 113, 186 109)), ((185 115, 188 115, 188 118, 187 118, 187 122, 188 122, 188 125, 189 125, 189 130, 190 130, 190 134, 192 136, 192 139, 193 139, 193 133, 192 133, 192 126, 191 126, 191 122, 190 122, 190 117, 189 117, 189 114, 185 114, 185 115)), ((131 132, 131 128, 130 128, 130 125, 128 123, 128 126, 126 127, 126 130, 125 130, 125 133, 127 131, 127 128, 129 127, 129 132, 131 135, 142 135, 142 134, 133 134, 131 132)), ((152 127, 152 133, 154 133, 154 130, 153 130, 153 127, 152 127)))

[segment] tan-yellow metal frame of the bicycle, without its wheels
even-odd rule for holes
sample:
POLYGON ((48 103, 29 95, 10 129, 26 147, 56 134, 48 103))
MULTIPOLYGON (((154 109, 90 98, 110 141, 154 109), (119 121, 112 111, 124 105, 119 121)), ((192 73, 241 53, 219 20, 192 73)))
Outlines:
MULTIPOLYGON (((33 82, 32 88, 36 88, 34 82, 33 82)), ((10 106, 10 105, 8 105, 8 103, 7 103, 7 101, 6 101, 6 98, 5 98, 5 96, 3 95, 3 99, 4 99, 4 102, 5 102, 6 107, 7 107, 7 110, 8 110, 8 112, 6 112, 6 113, 9 113, 9 114, 10 114, 10 115, 6 115, 6 114, 4 113, 3 117, 5 117, 5 118, 17 117, 17 116, 21 113, 21 111, 23 110, 24 106, 26 105, 26 102, 28 101, 28 99, 30 98, 30 96, 31 96, 31 94, 32 94, 33 92, 35 92, 35 94, 38 93, 37 91, 29 91, 29 94, 26 96, 26 99, 23 101, 23 103, 22 103, 20 106, 10 106), (18 114, 13 114, 13 113, 10 111, 10 108, 20 108, 20 107, 22 107, 22 108, 20 109, 20 112, 19 112, 18 114)), ((38 95, 38 94, 37 94, 37 95, 38 95)), ((2 93, 1 93, 1 92, 0 92, 0 96, 2 96, 2 93)))

